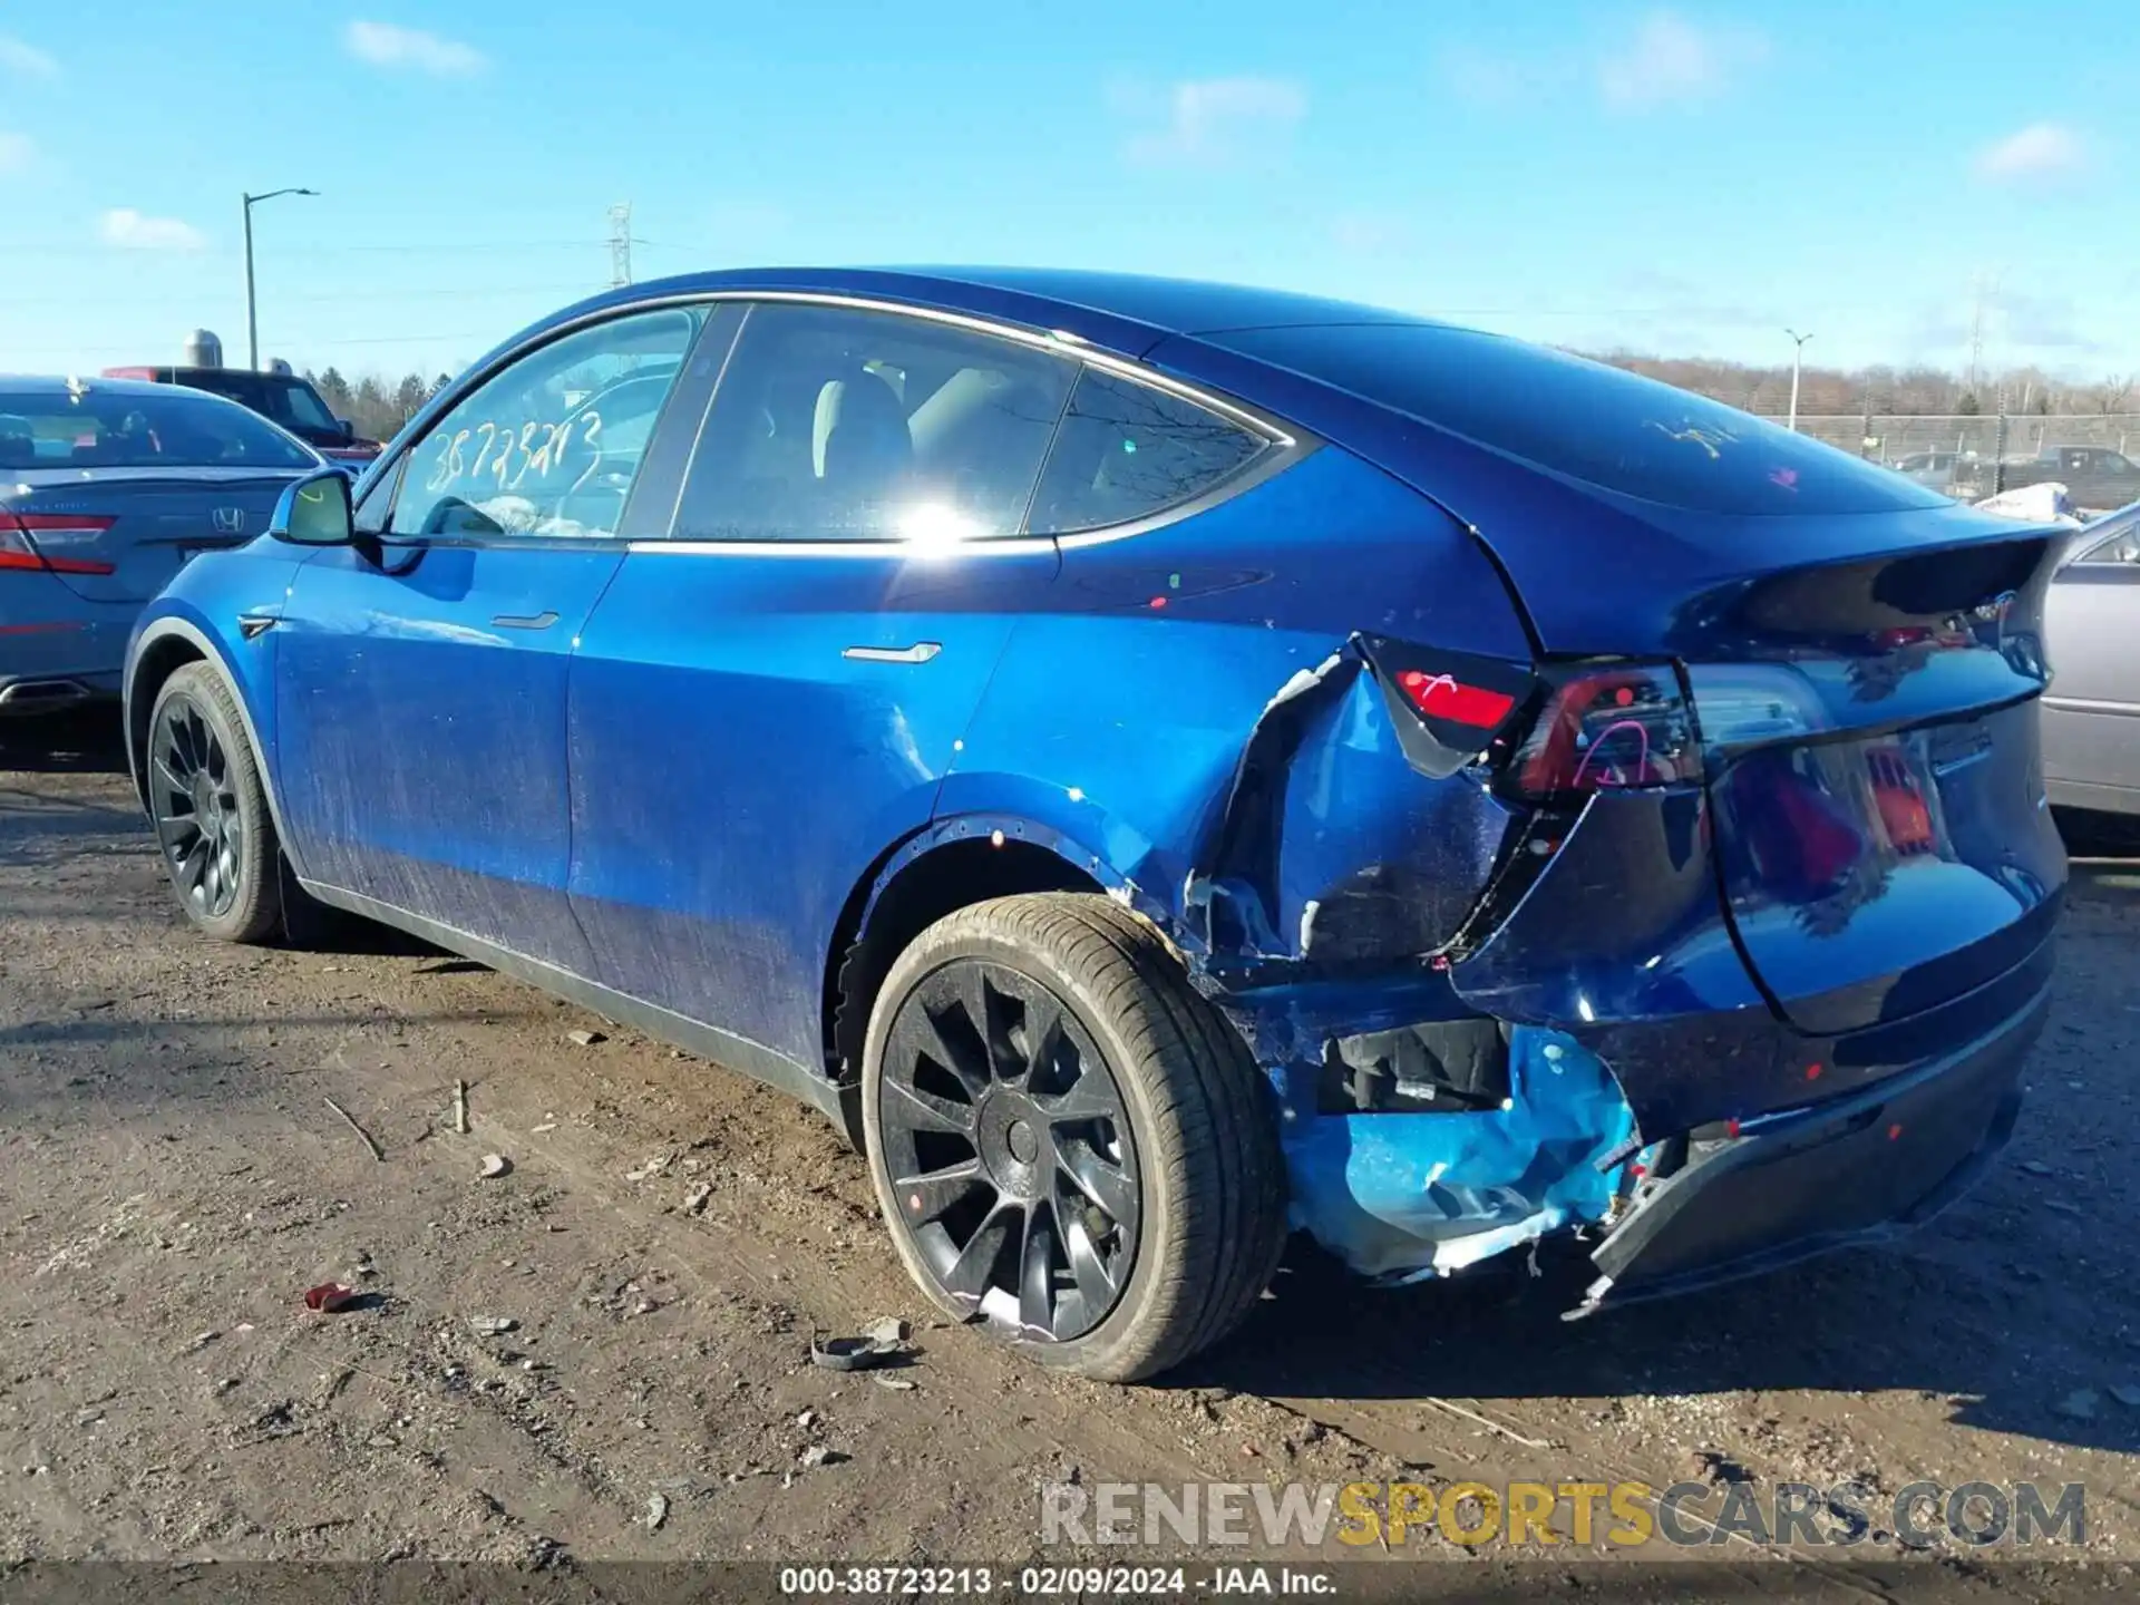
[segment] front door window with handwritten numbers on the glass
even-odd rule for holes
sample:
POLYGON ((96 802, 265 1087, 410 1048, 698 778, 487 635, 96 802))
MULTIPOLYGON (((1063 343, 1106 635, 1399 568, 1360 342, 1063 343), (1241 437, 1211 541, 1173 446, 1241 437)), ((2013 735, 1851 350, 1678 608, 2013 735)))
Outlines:
POLYGON ((409 449, 392 535, 614 535, 704 308, 567 334, 484 381, 409 449))

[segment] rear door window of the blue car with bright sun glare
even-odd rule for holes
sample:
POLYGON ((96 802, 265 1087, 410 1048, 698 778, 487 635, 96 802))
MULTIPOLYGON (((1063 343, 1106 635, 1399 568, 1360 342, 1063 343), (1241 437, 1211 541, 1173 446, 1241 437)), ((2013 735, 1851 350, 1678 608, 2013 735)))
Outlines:
POLYGON ((678 539, 1017 535, 1076 364, 899 312, 751 308, 678 539))

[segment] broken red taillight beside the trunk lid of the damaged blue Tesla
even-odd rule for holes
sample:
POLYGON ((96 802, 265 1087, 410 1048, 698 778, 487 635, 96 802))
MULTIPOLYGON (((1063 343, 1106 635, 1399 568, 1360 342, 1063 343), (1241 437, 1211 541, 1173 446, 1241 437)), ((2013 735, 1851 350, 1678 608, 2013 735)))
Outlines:
POLYGON ((1549 678, 1545 713, 1511 764, 1526 796, 1701 779, 1695 721, 1669 663, 1614 663, 1549 678))

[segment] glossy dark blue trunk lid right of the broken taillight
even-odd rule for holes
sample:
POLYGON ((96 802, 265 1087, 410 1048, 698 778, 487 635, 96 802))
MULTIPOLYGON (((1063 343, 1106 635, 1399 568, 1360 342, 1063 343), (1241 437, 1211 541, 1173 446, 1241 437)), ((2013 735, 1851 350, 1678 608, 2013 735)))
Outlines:
POLYGON ((1935 1008, 2050 933, 2065 850, 2037 698, 2063 539, 1774 574, 1686 663, 1725 907, 1800 1029, 1935 1008))

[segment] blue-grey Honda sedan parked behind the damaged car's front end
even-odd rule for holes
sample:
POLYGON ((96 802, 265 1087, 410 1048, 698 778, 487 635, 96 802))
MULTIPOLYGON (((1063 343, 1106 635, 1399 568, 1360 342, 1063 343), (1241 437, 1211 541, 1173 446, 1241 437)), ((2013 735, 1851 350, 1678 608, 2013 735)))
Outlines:
POLYGON ((141 603, 319 469, 218 396, 0 374, 0 713, 116 696, 141 603))

